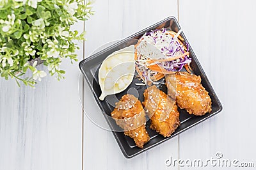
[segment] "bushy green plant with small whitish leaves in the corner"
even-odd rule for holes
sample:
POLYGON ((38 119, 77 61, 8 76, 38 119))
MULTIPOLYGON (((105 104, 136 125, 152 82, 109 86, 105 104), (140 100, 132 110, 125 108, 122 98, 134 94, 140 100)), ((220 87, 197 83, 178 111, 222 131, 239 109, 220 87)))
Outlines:
POLYGON ((92 15, 91 2, 83 0, 1 0, 0 74, 34 86, 46 73, 36 65, 44 63, 50 75, 63 78, 64 58, 77 61, 73 40, 84 40, 84 32, 70 26, 92 15), (24 77, 27 71, 31 77, 24 77))

